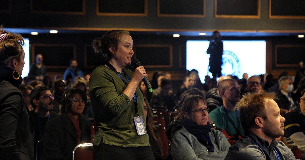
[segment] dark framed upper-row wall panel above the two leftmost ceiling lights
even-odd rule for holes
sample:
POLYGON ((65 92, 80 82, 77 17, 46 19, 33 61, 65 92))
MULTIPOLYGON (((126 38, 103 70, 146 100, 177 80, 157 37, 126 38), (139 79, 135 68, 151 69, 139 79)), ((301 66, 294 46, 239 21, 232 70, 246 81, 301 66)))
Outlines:
POLYGON ((31 0, 31 12, 85 14, 85 0, 31 0))

